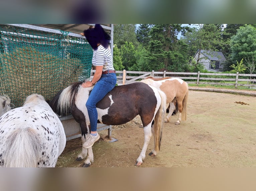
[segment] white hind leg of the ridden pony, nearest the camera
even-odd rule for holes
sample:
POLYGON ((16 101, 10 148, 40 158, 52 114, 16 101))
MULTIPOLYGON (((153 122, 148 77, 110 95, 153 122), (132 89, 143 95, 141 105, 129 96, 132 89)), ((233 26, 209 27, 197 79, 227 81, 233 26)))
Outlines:
POLYGON ((135 163, 136 166, 141 165, 143 162, 142 160, 146 157, 146 150, 147 150, 148 143, 150 141, 151 136, 152 136, 151 123, 149 123, 146 127, 144 127, 144 144, 140 152, 140 155, 137 158, 137 162, 135 163))

